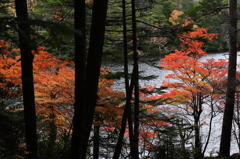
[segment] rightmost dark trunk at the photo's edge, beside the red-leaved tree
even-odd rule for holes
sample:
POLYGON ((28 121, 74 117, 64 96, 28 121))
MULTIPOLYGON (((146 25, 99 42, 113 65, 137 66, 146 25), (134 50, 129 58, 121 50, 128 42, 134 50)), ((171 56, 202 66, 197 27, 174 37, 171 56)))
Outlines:
POLYGON ((237 0, 230 0, 230 28, 229 28, 229 65, 226 105, 223 116, 222 135, 220 142, 220 155, 230 155, 231 130, 234 110, 234 98, 236 88, 236 64, 237 64, 237 0))

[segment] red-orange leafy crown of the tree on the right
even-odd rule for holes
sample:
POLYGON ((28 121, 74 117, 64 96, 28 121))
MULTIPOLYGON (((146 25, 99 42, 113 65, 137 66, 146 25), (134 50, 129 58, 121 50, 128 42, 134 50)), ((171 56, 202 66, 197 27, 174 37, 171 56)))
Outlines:
POLYGON ((181 50, 167 55, 161 59, 161 66, 173 73, 165 78, 170 79, 163 82, 164 87, 169 91, 162 94, 163 98, 172 98, 174 103, 191 104, 194 94, 213 94, 220 81, 227 74, 227 60, 207 59, 202 50, 203 42, 195 40, 196 37, 211 41, 216 34, 209 34, 206 29, 197 28, 193 32, 186 32, 180 35, 182 40, 181 50))

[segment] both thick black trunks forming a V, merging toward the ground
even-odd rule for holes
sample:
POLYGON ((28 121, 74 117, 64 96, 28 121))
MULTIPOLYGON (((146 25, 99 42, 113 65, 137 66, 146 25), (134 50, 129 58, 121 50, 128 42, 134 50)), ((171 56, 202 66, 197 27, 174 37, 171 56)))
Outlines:
POLYGON ((107 0, 93 3, 90 46, 86 66, 85 0, 75 0, 75 106, 71 158, 85 159, 97 103, 98 79, 107 13, 107 0))

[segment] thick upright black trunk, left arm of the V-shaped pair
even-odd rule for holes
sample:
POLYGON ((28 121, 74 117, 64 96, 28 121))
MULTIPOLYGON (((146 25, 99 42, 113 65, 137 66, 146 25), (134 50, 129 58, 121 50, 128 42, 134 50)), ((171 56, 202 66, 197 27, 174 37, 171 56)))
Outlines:
POLYGON ((74 29, 80 31, 80 34, 75 33, 75 104, 70 158, 78 159, 80 153, 83 153, 80 147, 87 147, 82 142, 86 120, 85 0, 74 0, 74 7, 74 29))

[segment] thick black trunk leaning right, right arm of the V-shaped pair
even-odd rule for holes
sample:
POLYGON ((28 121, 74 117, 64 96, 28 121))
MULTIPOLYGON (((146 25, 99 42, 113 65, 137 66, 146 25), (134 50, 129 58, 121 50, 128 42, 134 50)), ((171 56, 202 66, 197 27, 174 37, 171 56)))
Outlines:
POLYGON ((108 0, 94 0, 92 11, 92 24, 90 31, 90 44, 87 58, 86 86, 87 86, 87 105, 85 127, 81 131, 84 139, 80 145, 80 158, 86 158, 88 139, 91 132, 95 106, 97 103, 98 80, 102 62, 105 23, 107 15, 108 0))

